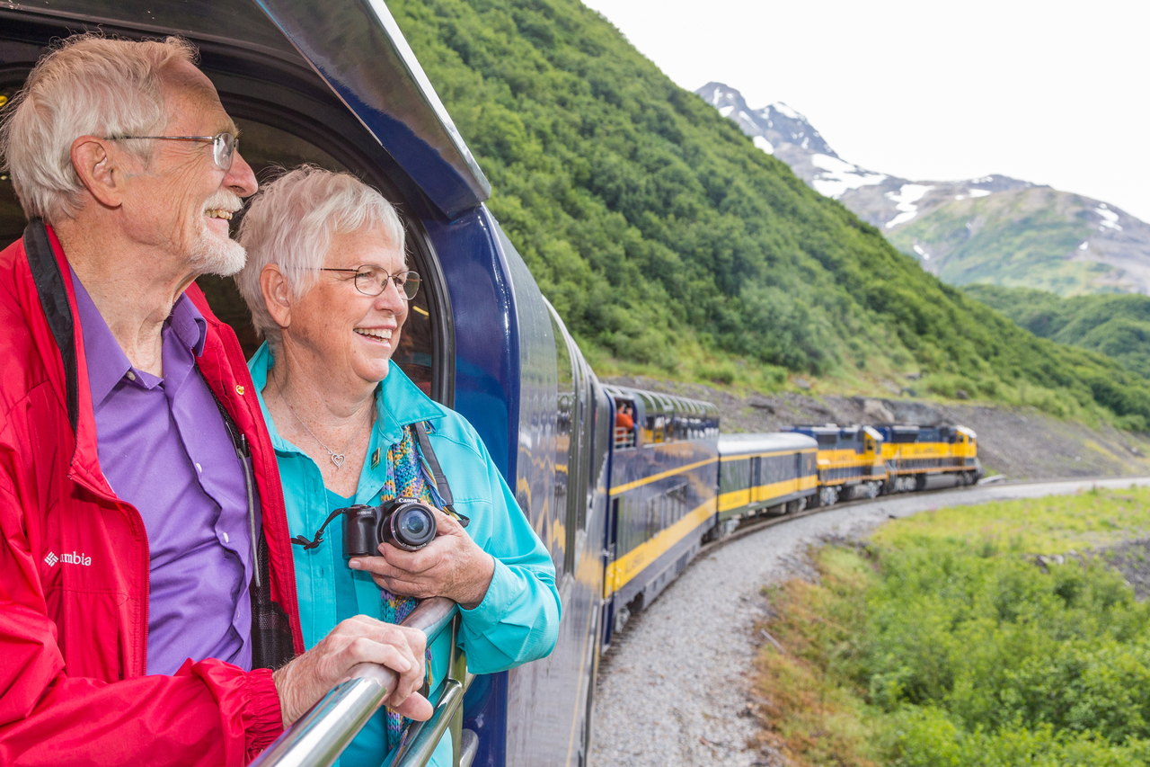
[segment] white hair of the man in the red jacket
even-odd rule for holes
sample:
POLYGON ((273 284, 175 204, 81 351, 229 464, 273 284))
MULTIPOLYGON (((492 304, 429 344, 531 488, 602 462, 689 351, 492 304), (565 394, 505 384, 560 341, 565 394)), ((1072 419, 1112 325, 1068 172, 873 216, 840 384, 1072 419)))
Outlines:
MULTIPOLYGON (((83 185, 71 164, 72 142, 161 132, 168 122, 164 69, 195 63, 187 40, 116 40, 99 33, 69 37, 41 58, 0 123, 13 187, 28 218, 76 215, 83 185)), ((153 142, 125 142, 147 162, 153 142)))

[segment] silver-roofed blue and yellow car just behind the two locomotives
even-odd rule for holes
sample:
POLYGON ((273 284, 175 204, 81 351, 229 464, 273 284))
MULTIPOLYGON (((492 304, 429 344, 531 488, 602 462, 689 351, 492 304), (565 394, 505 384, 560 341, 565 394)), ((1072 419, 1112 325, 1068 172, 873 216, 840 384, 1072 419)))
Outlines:
POLYGON ((802 511, 819 492, 819 443, 793 432, 719 438, 718 530, 757 514, 802 511))

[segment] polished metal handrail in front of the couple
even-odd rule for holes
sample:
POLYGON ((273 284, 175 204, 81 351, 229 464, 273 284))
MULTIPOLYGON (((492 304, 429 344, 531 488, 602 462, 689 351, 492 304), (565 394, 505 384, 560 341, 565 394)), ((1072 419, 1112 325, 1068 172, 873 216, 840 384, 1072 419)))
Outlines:
MULTIPOLYGON (((455 602, 443 597, 434 597, 420 602, 402 625, 423 631, 430 641, 455 614, 455 602)), ((256 757, 252 767, 331 767, 371 719, 371 714, 388 697, 398 679, 394 671, 376 663, 354 666, 346 681, 331 688, 306 714, 284 730, 263 753, 256 757)), ((458 681, 444 682, 444 692, 439 697, 431 721, 428 722, 430 727, 422 727, 414 738, 421 742, 435 735, 431 750, 427 753, 428 759, 447 728, 451 716, 458 709, 459 701, 462 700, 462 688, 458 681), (427 738, 423 737, 424 734, 428 734, 427 738)), ((405 767, 427 764, 427 759, 422 762, 413 760, 414 757, 422 754, 422 750, 416 753, 416 745, 419 743, 413 744, 405 757, 402 762, 405 767)), ((401 766, 397 762, 396 767, 401 766)))

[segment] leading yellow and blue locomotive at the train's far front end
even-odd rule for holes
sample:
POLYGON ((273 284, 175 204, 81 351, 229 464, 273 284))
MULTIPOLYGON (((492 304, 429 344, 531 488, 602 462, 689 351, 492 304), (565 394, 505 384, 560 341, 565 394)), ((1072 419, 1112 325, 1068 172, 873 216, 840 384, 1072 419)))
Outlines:
POLYGON ((961 485, 983 476, 977 434, 965 426, 883 424, 875 431, 883 436, 890 492, 922 489, 930 474, 953 474, 961 485))

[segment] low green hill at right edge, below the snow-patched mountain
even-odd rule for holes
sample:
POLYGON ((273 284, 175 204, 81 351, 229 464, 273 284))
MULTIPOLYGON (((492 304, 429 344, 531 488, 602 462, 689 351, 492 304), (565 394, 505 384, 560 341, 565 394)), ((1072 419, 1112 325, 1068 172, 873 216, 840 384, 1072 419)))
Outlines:
POLYGON ((1150 296, 1061 298, 1043 290, 973 284, 966 294, 1043 339, 1113 357, 1150 378, 1150 296))

